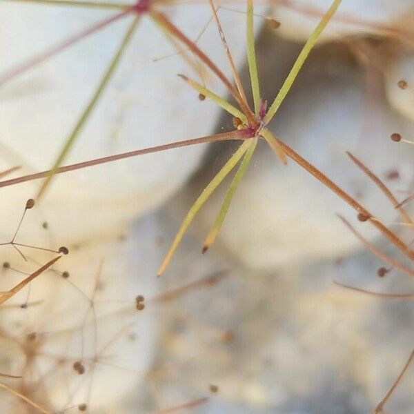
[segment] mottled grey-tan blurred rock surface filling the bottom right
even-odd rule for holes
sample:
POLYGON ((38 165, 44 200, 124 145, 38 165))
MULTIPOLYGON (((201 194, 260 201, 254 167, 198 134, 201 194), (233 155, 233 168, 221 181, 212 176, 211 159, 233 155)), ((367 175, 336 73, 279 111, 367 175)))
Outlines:
MULTIPOLYGON (((164 234, 161 250, 182 213, 173 201, 155 216, 164 234)), ((366 253, 258 272, 232 265, 226 255, 203 256, 200 247, 190 233, 161 279, 161 298, 191 282, 222 278, 154 304, 162 335, 148 378, 158 408, 208 396, 190 412, 372 411, 411 352, 412 303, 368 297, 333 281, 408 293, 410 280, 396 273, 379 279, 380 262, 366 253)), ((413 387, 411 370, 387 412, 411 413, 413 387)))

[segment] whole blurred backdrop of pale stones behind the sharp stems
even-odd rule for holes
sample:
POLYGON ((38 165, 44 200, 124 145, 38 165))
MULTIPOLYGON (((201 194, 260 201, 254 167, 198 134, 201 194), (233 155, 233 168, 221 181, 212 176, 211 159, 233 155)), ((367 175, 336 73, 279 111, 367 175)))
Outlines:
MULTIPOLYGON (((131 16, 114 19, 124 10, 120 1, 83 3, 0 4, 0 172, 16 168, 4 179, 53 165, 117 54, 63 164, 234 129, 232 117, 176 75, 224 97, 225 88, 150 17, 144 13, 135 28, 131 16)), ((215 6, 250 97, 246 5, 215 6)), ((259 79, 269 104, 329 6, 255 4, 259 79)), ((152 7, 231 76, 208 4, 152 7)), ((346 151, 399 201, 413 191, 414 147, 404 142, 414 140, 413 22, 412 1, 343 0, 269 125, 408 245, 411 226, 401 225, 346 151), (390 139, 395 133, 402 141, 390 139)), ((202 144, 59 175, 27 211, 41 181, 0 188, 1 291, 59 246, 69 249, 1 305, 0 372, 21 376, 1 379, 19 393, 2 391, 2 413, 375 410, 413 350, 413 301, 334 282, 403 295, 414 294, 414 285, 393 266, 380 277, 384 263, 338 215, 387 257, 409 269, 410 261, 308 172, 291 160, 282 165, 264 140, 212 248, 201 255, 232 177, 157 278, 188 208, 237 146, 202 144)), ((377 413, 413 408, 409 367, 377 413)))

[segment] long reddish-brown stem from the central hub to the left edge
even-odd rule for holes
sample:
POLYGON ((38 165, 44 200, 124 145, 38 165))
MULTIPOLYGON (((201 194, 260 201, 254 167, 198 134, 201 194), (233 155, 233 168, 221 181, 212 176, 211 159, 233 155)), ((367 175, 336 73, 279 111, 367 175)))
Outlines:
MULTIPOLYGON (((62 167, 57 168, 54 171, 54 174, 61 174, 63 172, 80 170, 81 168, 88 168, 88 167, 97 166, 100 164, 106 164, 108 162, 119 161, 120 159, 139 157, 140 155, 152 154, 153 152, 161 152, 165 150, 172 150, 174 148, 181 148, 181 147, 197 145, 197 144, 205 144, 207 142, 242 140, 242 139, 246 139, 249 137, 246 134, 247 134, 246 130, 223 132, 222 134, 208 135, 207 137, 201 137, 201 138, 195 138, 195 139, 186 139, 186 141, 173 142, 171 144, 164 144, 164 145, 159 145, 155 147, 144 148, 142 150, 122 152, 121 154, 108 155, 108 157, 91 159, 89 161, 83 161, 77 164, 70 164, 69 166, 62 166, 62 167)), ((51 172, 52 170, 46 170, 42 172, 35 172, 34 174, 23 175, 22 177, 0 181, 0 188, 13 186, 15 184, 23 183, 26 181, 32 181, 33 179, 40 179, 40 178, 48 177, 51 172)))

